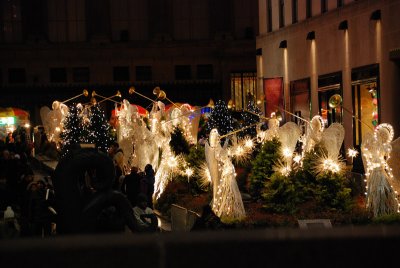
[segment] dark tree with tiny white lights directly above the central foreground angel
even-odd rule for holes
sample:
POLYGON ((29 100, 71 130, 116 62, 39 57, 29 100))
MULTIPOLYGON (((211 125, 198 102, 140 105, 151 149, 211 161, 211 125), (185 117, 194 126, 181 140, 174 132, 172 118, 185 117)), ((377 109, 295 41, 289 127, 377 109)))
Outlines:
POLYGON ((218 129, 219 135, 225 135, 233 131, 234 120, 225 102, 217 101, 207 121, 207 133, 214 128, 218 129))

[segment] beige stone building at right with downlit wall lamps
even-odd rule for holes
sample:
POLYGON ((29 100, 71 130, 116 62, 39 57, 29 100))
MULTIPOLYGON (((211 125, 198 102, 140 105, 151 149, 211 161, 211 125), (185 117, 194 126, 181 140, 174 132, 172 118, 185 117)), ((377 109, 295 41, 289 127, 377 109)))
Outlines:
POLYGON ((340 122, 345 148, 380 123, 399 136, 398 14, 399 0, 259 0, 257 95, 266 112, 340 122))

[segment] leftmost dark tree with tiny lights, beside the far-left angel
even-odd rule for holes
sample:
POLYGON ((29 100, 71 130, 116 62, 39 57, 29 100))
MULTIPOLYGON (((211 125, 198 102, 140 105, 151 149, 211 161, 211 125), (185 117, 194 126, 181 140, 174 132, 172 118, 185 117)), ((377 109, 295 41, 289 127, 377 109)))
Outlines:
POLYGON ((63 121, 64 130, 60 134, 60 139, 62 140, 62 150, 70 147, 71 145, 82 142, 82 137, 84 137, 84 127, 80 112, 81 110, 77 105, 72 105, 69 107, 68 115, 63 121))

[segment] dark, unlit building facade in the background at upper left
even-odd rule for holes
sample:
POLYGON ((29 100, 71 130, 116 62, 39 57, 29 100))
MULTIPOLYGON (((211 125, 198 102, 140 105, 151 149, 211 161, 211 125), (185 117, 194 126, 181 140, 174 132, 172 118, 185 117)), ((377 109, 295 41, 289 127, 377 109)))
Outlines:
POLYGON ((147 106, 131 85, 194 105, 255 91, 256 0, 1 0, 0 26, 0 106, 37 114, 84 88, 147 106))

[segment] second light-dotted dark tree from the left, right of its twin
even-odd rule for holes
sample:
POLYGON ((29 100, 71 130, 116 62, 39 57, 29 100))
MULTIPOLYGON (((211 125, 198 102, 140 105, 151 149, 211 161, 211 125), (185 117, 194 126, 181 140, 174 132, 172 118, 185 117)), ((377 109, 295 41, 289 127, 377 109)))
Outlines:
POLYGON ((99 105, 91 108, 89 117, 87 141, 96 145, 102 152, 107 152, 113 138, 111 136, 111 126, 99 105))

